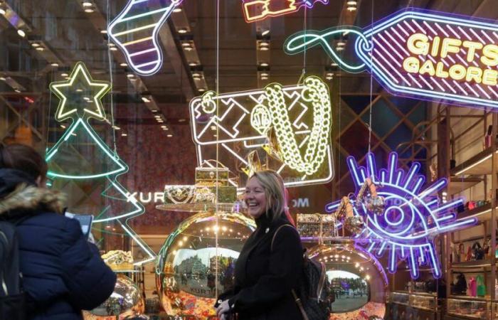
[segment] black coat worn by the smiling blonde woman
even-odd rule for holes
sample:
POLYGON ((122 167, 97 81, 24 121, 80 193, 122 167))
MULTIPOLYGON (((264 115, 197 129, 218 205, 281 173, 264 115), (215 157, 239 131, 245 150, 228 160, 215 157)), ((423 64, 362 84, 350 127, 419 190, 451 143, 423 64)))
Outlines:
POLYGON ((287 218, 271 222, 262 215, 235 262, 235 286, 218 297, 228 300, 239 320, 302 320, 291 289, 302 277, 302 244, 295 228, 281 228, 270 249, 272 237, 287 218))

